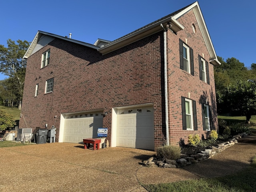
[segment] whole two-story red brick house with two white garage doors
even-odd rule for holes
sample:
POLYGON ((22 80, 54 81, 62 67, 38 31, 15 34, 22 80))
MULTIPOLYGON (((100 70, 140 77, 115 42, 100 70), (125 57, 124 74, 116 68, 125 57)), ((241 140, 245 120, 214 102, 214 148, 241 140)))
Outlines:
POLYGON ((55 126, 56 142, 103 127, 111 147, 155 150, 218 128, 220 62, 198 2, 112 42, 38 31, 24 58, 19 128, 55 126))

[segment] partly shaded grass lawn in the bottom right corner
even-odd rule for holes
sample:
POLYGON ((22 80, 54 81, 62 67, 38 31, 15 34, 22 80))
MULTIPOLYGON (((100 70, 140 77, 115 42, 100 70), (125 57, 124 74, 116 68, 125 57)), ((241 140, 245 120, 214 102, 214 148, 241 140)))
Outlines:
POLYGON ((218 178, 145 185, 149 192, 256 192, 256 156, 246 170, 218 178))

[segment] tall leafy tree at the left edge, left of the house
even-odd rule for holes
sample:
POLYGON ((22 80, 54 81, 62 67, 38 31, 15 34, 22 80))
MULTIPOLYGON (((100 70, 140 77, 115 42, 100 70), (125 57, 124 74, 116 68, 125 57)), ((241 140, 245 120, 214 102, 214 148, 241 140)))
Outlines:
POLYGON ((16 90, 18 92, 19 109, 21 109, 21 102, 23 96, 24 80, 26 73, 26 60, 23 56, 29 47, 29 42, 24 40, 12 41, 7 40, 7 48, 0 45, 0 72, 16 79, 16 90))

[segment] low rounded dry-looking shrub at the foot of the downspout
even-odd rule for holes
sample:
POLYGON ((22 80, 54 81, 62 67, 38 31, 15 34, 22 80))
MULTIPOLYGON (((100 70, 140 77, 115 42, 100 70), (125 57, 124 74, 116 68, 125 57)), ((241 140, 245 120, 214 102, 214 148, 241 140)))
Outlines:
POLYGON ((177 160, 180 158, 180 146, 162 146, 156 148, 156 156, 162 159, 177 160))

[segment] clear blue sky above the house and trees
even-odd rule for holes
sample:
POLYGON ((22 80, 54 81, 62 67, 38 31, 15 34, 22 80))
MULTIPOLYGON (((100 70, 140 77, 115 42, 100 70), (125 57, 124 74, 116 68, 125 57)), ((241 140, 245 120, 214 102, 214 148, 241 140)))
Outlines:
MULTIPOLYGON (((195 0, 8 0, 1 2, 0 44, 31 42, 38 30, 94 44, 115 40, 195 0)), ((255 0, 198 0, 216 54, 256 63, 255 0)), ((0 74, 0 80, 6 76, 0 74)))

